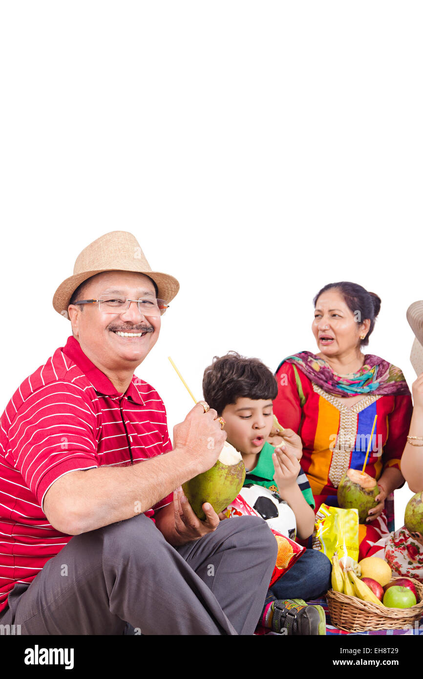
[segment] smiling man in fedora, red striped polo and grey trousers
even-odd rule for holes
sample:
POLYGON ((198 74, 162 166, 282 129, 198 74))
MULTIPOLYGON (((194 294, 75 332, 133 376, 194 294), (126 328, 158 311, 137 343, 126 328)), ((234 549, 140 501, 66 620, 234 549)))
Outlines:
POLYGON ((180 488, 221 452, 217 413, 197 404, 172 446, 162 400, 134 378, 178 289, 131 234, 112 232, 56 291, 73 335, 0 420, 2 625, 253 634, 276 540, 262 519, 219 521, 208 503, 200 521, 180 488))

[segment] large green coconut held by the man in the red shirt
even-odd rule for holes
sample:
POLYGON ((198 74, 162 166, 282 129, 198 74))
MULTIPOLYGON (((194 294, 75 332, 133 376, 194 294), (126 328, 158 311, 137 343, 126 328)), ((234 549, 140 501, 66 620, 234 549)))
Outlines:
POLYGON ((241 454, 225 441, 213 467, 183 483, 182 489, 198 518, 204 520, 202 504, 210 502, 219 514, 236 498, 244 479, 245 465, 241 454))

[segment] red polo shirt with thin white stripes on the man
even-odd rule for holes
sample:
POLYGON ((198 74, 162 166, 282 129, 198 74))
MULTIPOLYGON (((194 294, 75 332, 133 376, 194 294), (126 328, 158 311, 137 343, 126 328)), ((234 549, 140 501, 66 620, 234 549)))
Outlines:
MULTIPOLYGON (((42 511, 56 479, 170 449, 158 392, 133 376, 119 394, 74 337, 26 378, 0 418, 0 612, 15 583, 31 582, 72 537, 42 511)), ((169 495, 145 514, 171 501, 169 495)))

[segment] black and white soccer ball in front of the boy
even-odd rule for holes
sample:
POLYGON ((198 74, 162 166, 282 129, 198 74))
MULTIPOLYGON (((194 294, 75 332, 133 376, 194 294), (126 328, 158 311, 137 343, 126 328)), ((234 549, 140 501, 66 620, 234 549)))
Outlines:
POLYGON ((240 496, 268 522, 270 528, 295 540, 297 534, 295 514, 277 492, 257 483, 249 483, 241 488, 240 496))

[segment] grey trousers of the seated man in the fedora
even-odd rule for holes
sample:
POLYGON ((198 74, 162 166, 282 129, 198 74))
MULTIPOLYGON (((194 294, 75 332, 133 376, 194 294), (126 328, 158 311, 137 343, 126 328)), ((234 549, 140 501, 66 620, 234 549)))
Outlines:
POLYGON ((253 634, 276 540, 237 517, 175 549, 143 514, 73 536, 30 585, 17 584, 2 625, 21 634, 253 634))

